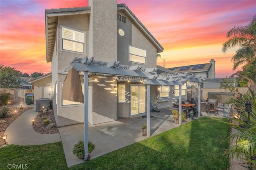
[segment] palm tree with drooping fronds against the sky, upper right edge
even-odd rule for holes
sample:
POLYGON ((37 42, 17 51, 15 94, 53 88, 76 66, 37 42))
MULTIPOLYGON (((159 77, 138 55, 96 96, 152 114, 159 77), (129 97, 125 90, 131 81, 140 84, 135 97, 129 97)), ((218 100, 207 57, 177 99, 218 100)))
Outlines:
POLYGON ((247 26, 235 26, 226 35, 228 41, 222 45, 222 51, 226 53, 229 48, 240 46, 236 55, 232 57, 233 69, 239 65, 250 63, 256 57, 256 15, 247 26))

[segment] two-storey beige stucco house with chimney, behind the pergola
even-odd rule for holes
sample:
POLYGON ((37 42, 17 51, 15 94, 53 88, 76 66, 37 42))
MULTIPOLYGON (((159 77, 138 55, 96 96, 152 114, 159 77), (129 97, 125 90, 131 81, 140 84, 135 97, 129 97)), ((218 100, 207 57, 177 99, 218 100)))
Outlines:
MULTIPOLYGON (((88 7, 45 10, 45 16, 46 60, 52 62, 51 98, 58 126, 84 121, 82 103, 62 100, 64 70, 76 57, 93 56, 95 61, 156 68, 156 54, 163 51, 131 10, 117 1, 89 1, 88 7)), ((90 124, 145 115, 147 86, 141 80, 130 82, 130 78, 117 82, 115 76, 89 73, 90 124)), ((80 80, 83 87, 83 76, 80 80)), ((35 86, 37 81, 33 81, 35 86)), ((170 87, 160 89, 150 86, 150 96, 160 96, 158 102, 166 100, 164 106, 170 106, 170 87)), ((150 101, 156 102, 156 98, 150 101)))

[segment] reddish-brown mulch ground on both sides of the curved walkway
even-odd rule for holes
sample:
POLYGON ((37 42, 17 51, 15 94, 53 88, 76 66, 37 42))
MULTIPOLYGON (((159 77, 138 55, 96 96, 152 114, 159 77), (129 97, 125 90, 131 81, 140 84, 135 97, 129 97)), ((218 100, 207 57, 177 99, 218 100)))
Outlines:
MULTIPOLYGON (((4 106, 1 106, 4 107, 4 106)), ((0 123, 0 147, 2 145, 6 145, 4 143, 4 140, 2 140, 2 136, 4 135, 4 132, 6 131, 7 127, 14 121, 16 120, 18 117, 20 117, 20 115, 27 110, 33 109, 33 107, 23 107, 21 109, 21 107, 13 107, 13 106, 9 106, 11 114, 9 117, 6 117, 4 119, 0 119, 0 120, 4 120, 6 122, 4 123, 0 123), (16 115, 15 115, 15 111, 16 111, 16 115)), ((35 121, 34 121, 34 125, 33 125, 33 129, 34 131, 36 131, 37 133, 41 133, 41 134, 53 134, 53 133, 59 133, 58 131, 58 127, 56 126, 56 121, 55 121, 55 117, 54 117, 54 113, 53 110, 49 110, 48 115, 46 113, 43 113, 42 116, 39 116, 40 113, 38 112, 38 115, 35 117, 35 121), (42 124, 42 117, 46 116, 47 119, 50 120, 50 123, 54 123, 54 127, 52 129, 46 129, 47 126, 44 126, 42 124)), ((7 136, 8 138, 8 136, 7 136)))

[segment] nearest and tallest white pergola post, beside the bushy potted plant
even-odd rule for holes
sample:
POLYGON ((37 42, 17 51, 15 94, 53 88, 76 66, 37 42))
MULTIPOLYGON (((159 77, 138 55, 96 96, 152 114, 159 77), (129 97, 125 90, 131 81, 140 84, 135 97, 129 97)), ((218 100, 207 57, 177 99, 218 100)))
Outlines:
POLYGON ((89 160, 88 135, 88 72, 84 72, 84 161, 89 160))

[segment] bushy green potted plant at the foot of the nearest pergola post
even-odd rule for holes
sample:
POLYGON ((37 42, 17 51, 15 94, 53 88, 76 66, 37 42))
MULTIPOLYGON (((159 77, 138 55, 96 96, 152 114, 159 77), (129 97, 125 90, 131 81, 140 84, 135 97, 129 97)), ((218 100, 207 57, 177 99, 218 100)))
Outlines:
MULTIPOLYGON (((95 145, 92 142, 88 142, 88 153, 95 149, 95 145)), ((73 154, 75 154, 79 159, 84 159, 84 141, 78 141, 74 145, 73 154)))

